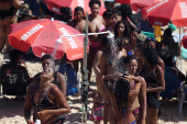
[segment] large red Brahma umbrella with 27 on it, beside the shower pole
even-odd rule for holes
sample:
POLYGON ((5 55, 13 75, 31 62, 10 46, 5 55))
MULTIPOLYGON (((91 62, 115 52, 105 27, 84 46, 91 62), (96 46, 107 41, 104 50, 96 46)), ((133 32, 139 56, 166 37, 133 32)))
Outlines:
POLYGON ((64 53, 69 60, 84 57, 84 36, 62 37, 62 43, 56 42, 59 36, 81 34, 74 27, 56 20, 32 20, 10 26, 9 43, 16 49, 28 52, 31 47, 35 56, 52 54, 55 59, 63 57, 64 53))

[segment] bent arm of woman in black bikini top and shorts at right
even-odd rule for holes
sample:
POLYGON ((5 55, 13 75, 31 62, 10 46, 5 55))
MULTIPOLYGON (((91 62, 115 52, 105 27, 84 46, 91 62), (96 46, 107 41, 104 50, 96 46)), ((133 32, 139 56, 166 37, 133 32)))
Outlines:
POLYGON ((160 92, 165 90, 164 71, 161 66, 156 66, 155 72, 157 76, 158 86, 155 88, 146 88, 146 92, 160 92))

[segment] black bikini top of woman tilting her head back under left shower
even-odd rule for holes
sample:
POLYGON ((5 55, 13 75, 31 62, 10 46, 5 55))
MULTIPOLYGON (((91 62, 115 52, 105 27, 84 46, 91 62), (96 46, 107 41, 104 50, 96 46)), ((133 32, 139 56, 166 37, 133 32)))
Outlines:
POLYGON ((43 100, 41 99, 38 104, 36 104, 34 102, 34 94, 35 94, 35 91, 37 89, 36 88, 33 95, 32 95, 32 98, 31 98, 31 105, 33 105, 33 106, 53 106, 52 101, 47 98, 47 91, 48 91, 50 87, 51 87, 51 84, 48 84, 47 88, 45 89, 45 91, 43 93, 44 98, 43 98, 43 100))

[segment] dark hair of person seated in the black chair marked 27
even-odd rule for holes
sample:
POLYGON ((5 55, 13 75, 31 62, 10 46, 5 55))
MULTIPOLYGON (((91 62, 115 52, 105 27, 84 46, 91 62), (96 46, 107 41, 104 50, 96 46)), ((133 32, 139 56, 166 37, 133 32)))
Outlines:
POLYGON ((11 61, 15 61, 20 55, 23 55, 24 53, 19 49, 13 49, 9 53, 9 58, 11 61))

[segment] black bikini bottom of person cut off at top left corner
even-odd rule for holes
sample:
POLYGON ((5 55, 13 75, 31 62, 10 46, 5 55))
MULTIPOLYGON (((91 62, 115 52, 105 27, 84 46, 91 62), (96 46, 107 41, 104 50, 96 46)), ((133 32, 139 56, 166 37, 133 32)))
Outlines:
POLYGON ((14 10, 15 10, 15 7, 12 5, 12 0, 11 0, 11 7, 10 7, 9 10, 1 10, 0 9, 0 19, 3 20, 4 18, 7 18, 9 15, 14 15, 14 13, 13 13, 14 10))

